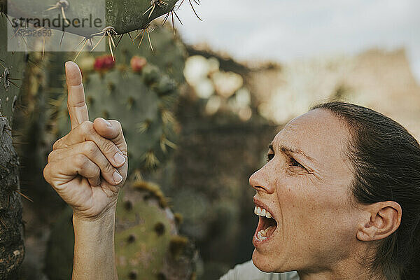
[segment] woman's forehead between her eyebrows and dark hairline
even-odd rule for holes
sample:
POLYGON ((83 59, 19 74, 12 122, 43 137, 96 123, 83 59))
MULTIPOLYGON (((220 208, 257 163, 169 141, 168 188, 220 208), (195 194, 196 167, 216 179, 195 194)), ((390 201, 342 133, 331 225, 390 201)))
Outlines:
POLYGON ((302 151, 316 162, 332 164, 344 161, 349 130, 344 121, 332 113, 315 109, 299 116, 283 127, 272 145, 286 146, 302 151))

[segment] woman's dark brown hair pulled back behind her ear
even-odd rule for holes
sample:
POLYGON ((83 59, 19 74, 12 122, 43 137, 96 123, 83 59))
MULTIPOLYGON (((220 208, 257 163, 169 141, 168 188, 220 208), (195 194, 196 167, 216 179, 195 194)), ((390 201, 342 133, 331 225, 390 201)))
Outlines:
POLYGON ((357 202, 395 201, 400 227, 375 245, 367 265, 389 280, 420 279, 420 146, 404 127, 381 113, 345 102, 312 109, 330 111, 348 125, 349 158, 354 169, 351 193, 357 202))

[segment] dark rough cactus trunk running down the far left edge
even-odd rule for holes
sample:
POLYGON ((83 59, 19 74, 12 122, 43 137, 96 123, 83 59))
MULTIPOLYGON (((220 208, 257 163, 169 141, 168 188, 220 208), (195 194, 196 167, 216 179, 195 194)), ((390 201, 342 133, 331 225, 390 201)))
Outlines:
MULTIPOLYGON (((0 41, 6 42, 6 18, 0 18, 0 41)), ((25 255, 19 161, 12 144, 13 111, 20 92, 25 54, 0 45, 0 279, 15 279, 25 255)))

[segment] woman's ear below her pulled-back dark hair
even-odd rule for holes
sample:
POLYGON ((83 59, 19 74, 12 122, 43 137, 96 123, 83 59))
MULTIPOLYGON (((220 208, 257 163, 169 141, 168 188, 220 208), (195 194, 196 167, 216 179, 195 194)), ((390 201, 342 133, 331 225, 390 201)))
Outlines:
POLYGON ((397 202, 377 202, 367 205, 365 214, 358 226, 357 239, 373 241, 384 239, 398 229, 402 209, 397 202))

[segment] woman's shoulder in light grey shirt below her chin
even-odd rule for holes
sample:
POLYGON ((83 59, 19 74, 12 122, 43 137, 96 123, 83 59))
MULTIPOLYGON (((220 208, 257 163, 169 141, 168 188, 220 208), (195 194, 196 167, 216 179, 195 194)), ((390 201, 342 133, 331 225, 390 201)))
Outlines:
POLYGON ((267 273, 255 267, 252 260, 235 265, 219 280, 299 280, 297 272, 267 273))

